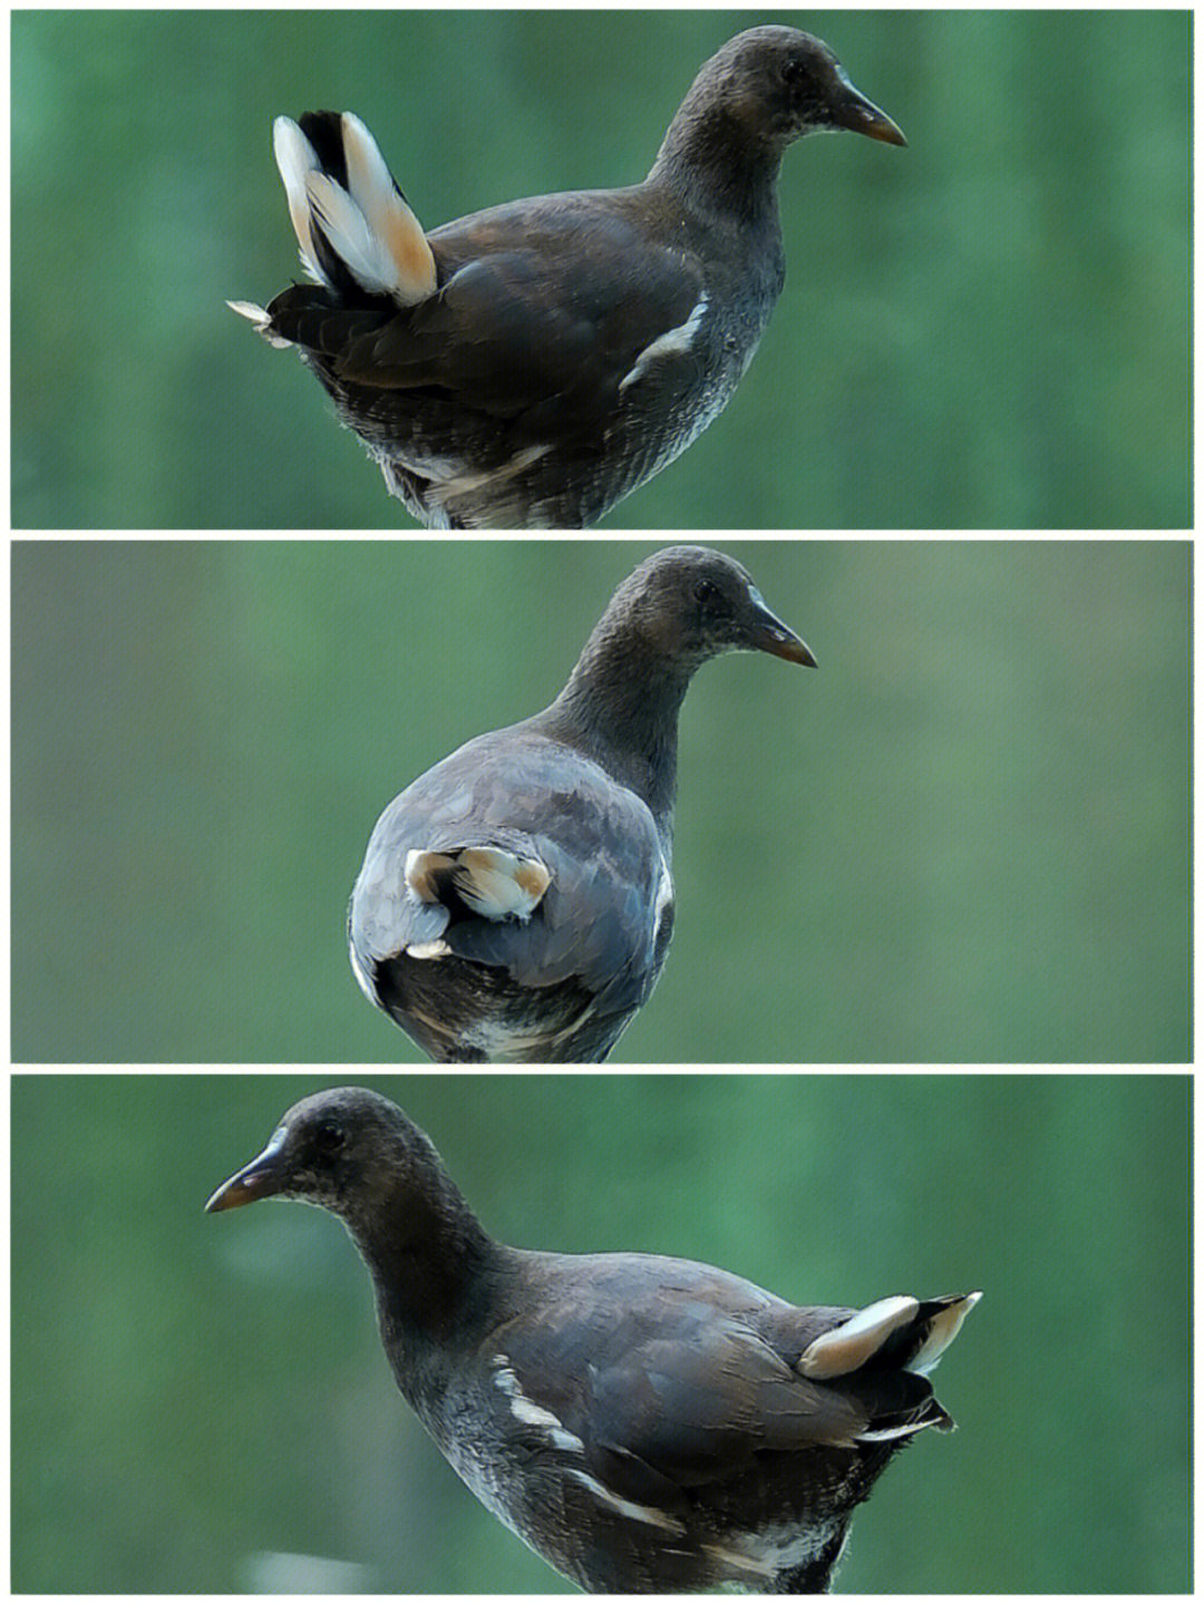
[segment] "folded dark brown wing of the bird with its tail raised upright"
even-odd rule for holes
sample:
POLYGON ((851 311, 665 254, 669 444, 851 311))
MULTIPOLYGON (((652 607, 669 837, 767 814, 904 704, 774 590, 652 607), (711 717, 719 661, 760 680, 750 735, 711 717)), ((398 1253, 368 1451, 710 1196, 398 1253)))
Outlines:
POLYGON ((545 196, 478 212, 428 236, 439 290, 415 306, 277 297, 273 327, 319 353, 335 379, 380 391, 442 391, 475 412, 582 433, 664 359, 688 359, 705 306, 693 250, 649 241, 633 191, 545 196), (694 322, 691 322, 694 319, 694 322))

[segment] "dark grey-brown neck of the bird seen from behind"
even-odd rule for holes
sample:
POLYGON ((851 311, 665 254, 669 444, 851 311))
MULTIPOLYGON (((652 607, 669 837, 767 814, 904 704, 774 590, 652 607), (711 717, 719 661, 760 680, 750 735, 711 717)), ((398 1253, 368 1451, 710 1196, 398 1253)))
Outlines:
POLYGON ((677 792, 677 722, 696 664, 635 648, 627 632, 608 630, 603 619, 540 722, 547 735, 635 791, 667 842, 677 792))

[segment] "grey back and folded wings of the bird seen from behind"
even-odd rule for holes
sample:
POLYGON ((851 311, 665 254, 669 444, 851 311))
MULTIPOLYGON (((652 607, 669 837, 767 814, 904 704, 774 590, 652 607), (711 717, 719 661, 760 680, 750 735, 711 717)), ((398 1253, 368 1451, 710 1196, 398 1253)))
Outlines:
POLYGON ((612 1009, 644 999, 670 922, 669 865, 643 800, 580 754, 511 730, 470 741, 385 810, 349 934, 369 974, 402 951, 450 953, 527 986, 576 977, 612 1009), (454 877, 439 881, 441 860, 473 849, 526 874, 526 895, 462 897, 454 877))

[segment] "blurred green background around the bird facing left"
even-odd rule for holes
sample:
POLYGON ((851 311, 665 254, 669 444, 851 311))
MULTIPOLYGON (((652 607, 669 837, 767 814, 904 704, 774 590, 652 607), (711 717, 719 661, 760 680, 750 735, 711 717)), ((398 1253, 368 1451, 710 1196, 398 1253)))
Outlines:
MULTIPOLYGON (((14 1591, 569 1591, 396 1395, 341 1227, 202 1214, 337 1081, 14 1079, 14 1591)), ((1190 1590, 1185 1076, 367 1084, 521 1246, 800 1302, 984 1288, 935 1378, 960 1429, 887 1471, 840 1593, 1190 1590)))

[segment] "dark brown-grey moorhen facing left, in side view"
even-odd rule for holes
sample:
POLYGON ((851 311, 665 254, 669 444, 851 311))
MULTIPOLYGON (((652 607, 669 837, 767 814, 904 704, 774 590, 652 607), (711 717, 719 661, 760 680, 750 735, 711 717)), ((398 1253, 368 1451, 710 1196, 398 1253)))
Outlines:
POLYGON ((587 1593, 826 1591, 890 1460, 952 1429, 927 1373, 978 1291, 797 1307, 685 1259, 510 1248, 354 1086, 295 1104, 207 1206, 266 1197, 341 1219, 402 1397, 587 1593))

